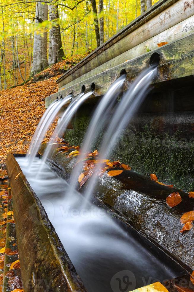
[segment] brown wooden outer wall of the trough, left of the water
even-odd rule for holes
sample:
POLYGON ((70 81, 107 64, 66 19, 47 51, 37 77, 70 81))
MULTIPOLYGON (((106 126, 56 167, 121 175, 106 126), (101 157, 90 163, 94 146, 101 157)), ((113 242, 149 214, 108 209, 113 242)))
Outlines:
POLYGON ((25 291, 87 292, 13 153, 7 155, 25 291))

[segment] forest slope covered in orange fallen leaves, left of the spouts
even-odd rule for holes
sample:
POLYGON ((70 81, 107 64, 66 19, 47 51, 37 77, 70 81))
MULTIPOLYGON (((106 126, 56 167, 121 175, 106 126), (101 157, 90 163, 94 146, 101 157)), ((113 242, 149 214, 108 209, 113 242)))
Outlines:
MULTIPOLYGON (((0 168, 5 167, 9 151, 27 151, 45 111, 45 97, 58 91, 56 80, 84 57, 74 55, 36 74, 23 86, 0 91, 0 168)), ((47 137, 54 127, 55 123, 47 137)))

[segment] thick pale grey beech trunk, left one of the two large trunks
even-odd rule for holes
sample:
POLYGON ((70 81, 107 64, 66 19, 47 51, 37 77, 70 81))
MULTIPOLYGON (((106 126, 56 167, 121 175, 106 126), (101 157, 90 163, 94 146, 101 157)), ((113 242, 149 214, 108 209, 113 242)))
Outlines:
MULTIPOLYGON (((48 5, 36 3, 35 23, 41 23, 48 19, 48 5)), ((44 70, 48 67, 47 59, 47 31, 43 33, 43 36, 34 32, 34 49, 33 49, 33 63, 31 75, 44 70)))

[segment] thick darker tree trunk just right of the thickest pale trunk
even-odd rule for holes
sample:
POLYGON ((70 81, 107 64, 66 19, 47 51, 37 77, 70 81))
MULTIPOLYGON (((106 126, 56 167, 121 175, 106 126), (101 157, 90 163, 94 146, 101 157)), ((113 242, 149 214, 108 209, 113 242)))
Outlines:
MULTIPOLYGON (((52 21, 55 22, 53 24, 52 29, 50 29, 50 33, 49 33, 49 37, 51 38, 52 50, 53 50, 52 63, 55 64, 64 57, 63 46, 62 46, 62 41, 61 41, 60 25, 59 25, 58 4, 49 5, 49 20, 51 22, 52 21)), ((49 51, 49 55, 50 54, 51 52, 49 51)))

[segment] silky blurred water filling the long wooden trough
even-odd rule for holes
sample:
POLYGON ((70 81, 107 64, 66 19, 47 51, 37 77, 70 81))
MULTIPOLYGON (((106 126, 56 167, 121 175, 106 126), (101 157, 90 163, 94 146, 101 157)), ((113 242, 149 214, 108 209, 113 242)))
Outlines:
POLYGON ((33 161, 30 171, 25 158, 17 161, 88 292, 127 292, 177 276, 104 210, 93 205, 80 209, 82 195, 74 192, 76 204, 72 205, 65 195, 67 182, 41 159, 33 161), (40 167, 42 175, 37 179, 40 167))

